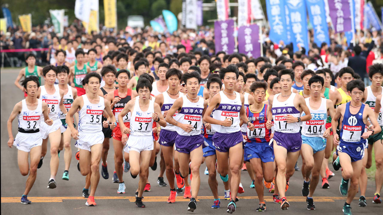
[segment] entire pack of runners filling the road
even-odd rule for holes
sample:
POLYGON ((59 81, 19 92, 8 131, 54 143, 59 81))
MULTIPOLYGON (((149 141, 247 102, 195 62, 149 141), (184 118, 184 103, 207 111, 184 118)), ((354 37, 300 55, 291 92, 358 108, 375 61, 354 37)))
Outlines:
POLYGON ((7 122, 8 146, 18 149, 21 174, 29 174, 21 203, 31 204, 27 195, 43 165, 48 140, 51 176, 47 187, 57 187, 61 150, 65 162, 62 179, 69 180, 72 138, 79 149, 77 167, 86 176, 82 194, 88 206, 96 205, 100 161, 101 176, 109 178, 110 138, 117 192, 125 193, 123 172, 130 170, 132 178, 139 176, 135 204, 140 208, 145 207, 143 192, 151 190, 149 166, 157 168, 159 154, 158 183, 167 186, 165 173, 170 187, 168 203, 184 193, 184 198, 190 198, 188 210, 196 210, 200 167, 205 163, 214 196, 211 208, 219 208, 221 203, 219 174, 224 199, 229 200, 227 212, 233 213, 237 194, 244 192, 241 168, 245 163, 252 179, 250 187, 259 199, 255 210, 266 210, 264 187, 273 193, 273 202, 286 210, 290 207, 289 179, 301 155, 302 195, 307 209, 315 210, 319 179, 322 188, 329 188, 328 179, 334 176, 328 164, 335 148, 332 166, 342 168, 339 190, 347 195, 344 214, 351 214, 358 187, 358 205, 367 206, 365 168, 371 166, 372 148, 376 161, 373 203, 381 203, 382 64, 370 67, 372 85, 365 87, 350 67, 333 77, 329 69, 305 70, 298 60, 272 66, 265 57, 244 61, 239 54, 226 57, 218 53, 214 60, 222 61, 221 66, 209 69, 216 64, 200 53, 194 61, 179 53, 184 55, 179 59, 182 63, 170 59, 168 64, 161 57, 154 58, 152 52, 138 59, 133 55, 141 53, 132 52, 105 55, 101 64, 95 60, 97 50, 88 50, 84 58, 85 52, 77 49, 75 61, 69 64, 60 56, 65 52, 57 50, 56 64, 44 68, 35 65, 33 54, 26 57, 28 67, 15 81, 25 99, 15 105, 7 122), (331 85, 332 79, 338 88, 331 85), (16 117, 18 134, 13 137, 16 117))

